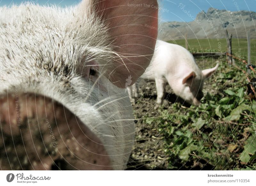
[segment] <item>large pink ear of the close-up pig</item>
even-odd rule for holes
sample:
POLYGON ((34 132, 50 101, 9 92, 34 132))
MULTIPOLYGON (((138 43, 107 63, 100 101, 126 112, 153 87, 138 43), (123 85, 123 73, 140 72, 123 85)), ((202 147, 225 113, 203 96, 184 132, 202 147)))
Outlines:
MULTIPOLYGON (((88 5, 84 0, 81 4, 88 5)), ((91 0, 109 28, 116 55, 108 66, 109 80, 120 88, 132 85, 144 73, 154 54, 158 4, 156 0, 91 0), (131 77, 131 79, 129 78, 131 77), (127 85, 126 79, 132 82, 127 85)))

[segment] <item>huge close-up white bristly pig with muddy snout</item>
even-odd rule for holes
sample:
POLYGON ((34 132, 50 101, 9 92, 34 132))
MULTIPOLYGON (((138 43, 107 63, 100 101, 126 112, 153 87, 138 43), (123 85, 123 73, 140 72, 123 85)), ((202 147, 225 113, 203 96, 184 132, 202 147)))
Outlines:
POLYGON ((157 15, 156 0, 0 7, 1 169, 125 169, 125 88, 151 61, 157 15))

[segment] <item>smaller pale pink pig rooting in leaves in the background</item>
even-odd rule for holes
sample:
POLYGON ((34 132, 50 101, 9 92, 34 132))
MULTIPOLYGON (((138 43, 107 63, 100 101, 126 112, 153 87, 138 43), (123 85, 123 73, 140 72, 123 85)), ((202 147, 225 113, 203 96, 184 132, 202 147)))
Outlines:
MULTIPOLYGON (((184 47, 161 40, 156 42, 156 51, 151 64, 140 77, 142 80, 155 81, 157 90, 156 108, 163 103, 165 85, 168 83, 172 91, 190 104, 200 104, 203 97, 204 80, 218 68, 200 70, 193 55, 184 47)), ((140 83, 138 83, 140 84, 140 83)), ((128 88, 129 96, 136 97, 137 86, 128 88)))

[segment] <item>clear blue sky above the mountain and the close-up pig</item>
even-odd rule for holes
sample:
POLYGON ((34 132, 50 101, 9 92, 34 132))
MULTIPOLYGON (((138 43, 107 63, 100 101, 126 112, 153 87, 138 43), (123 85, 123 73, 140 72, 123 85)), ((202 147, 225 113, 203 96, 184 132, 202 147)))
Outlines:
MULTIPOLYGON (((0 0, 0 6, 11 3, 20 4, 23 0, 0 0)), ((59 4, 69 6, 77 4, 80 0, 26 0, 38 2, 38 4, 59 4)), ((256 0, 159 0, 163 8, 161 12, 162 21, 192 21, 196 15, 210 8, 228 11, 249 10, 256 12, 256 0), (189 13, 188 13, 189 11, 189 13), (188 16, 188 14, 191 14, 188 16)))

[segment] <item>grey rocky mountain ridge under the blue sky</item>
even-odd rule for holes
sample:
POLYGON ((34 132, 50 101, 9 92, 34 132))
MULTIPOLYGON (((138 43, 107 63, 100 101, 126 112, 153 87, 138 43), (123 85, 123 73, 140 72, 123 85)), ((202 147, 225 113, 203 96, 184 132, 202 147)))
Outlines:
POLYGON ((246 38, 246 31, 251 30, 251 38, 256 39, 256 12, 227 11, 210 8, 201 11, 191 22, 165 22, 159 26, 159 38, 165 41, 203 38, 225 38, 225 29, 233 38, 246 38))

